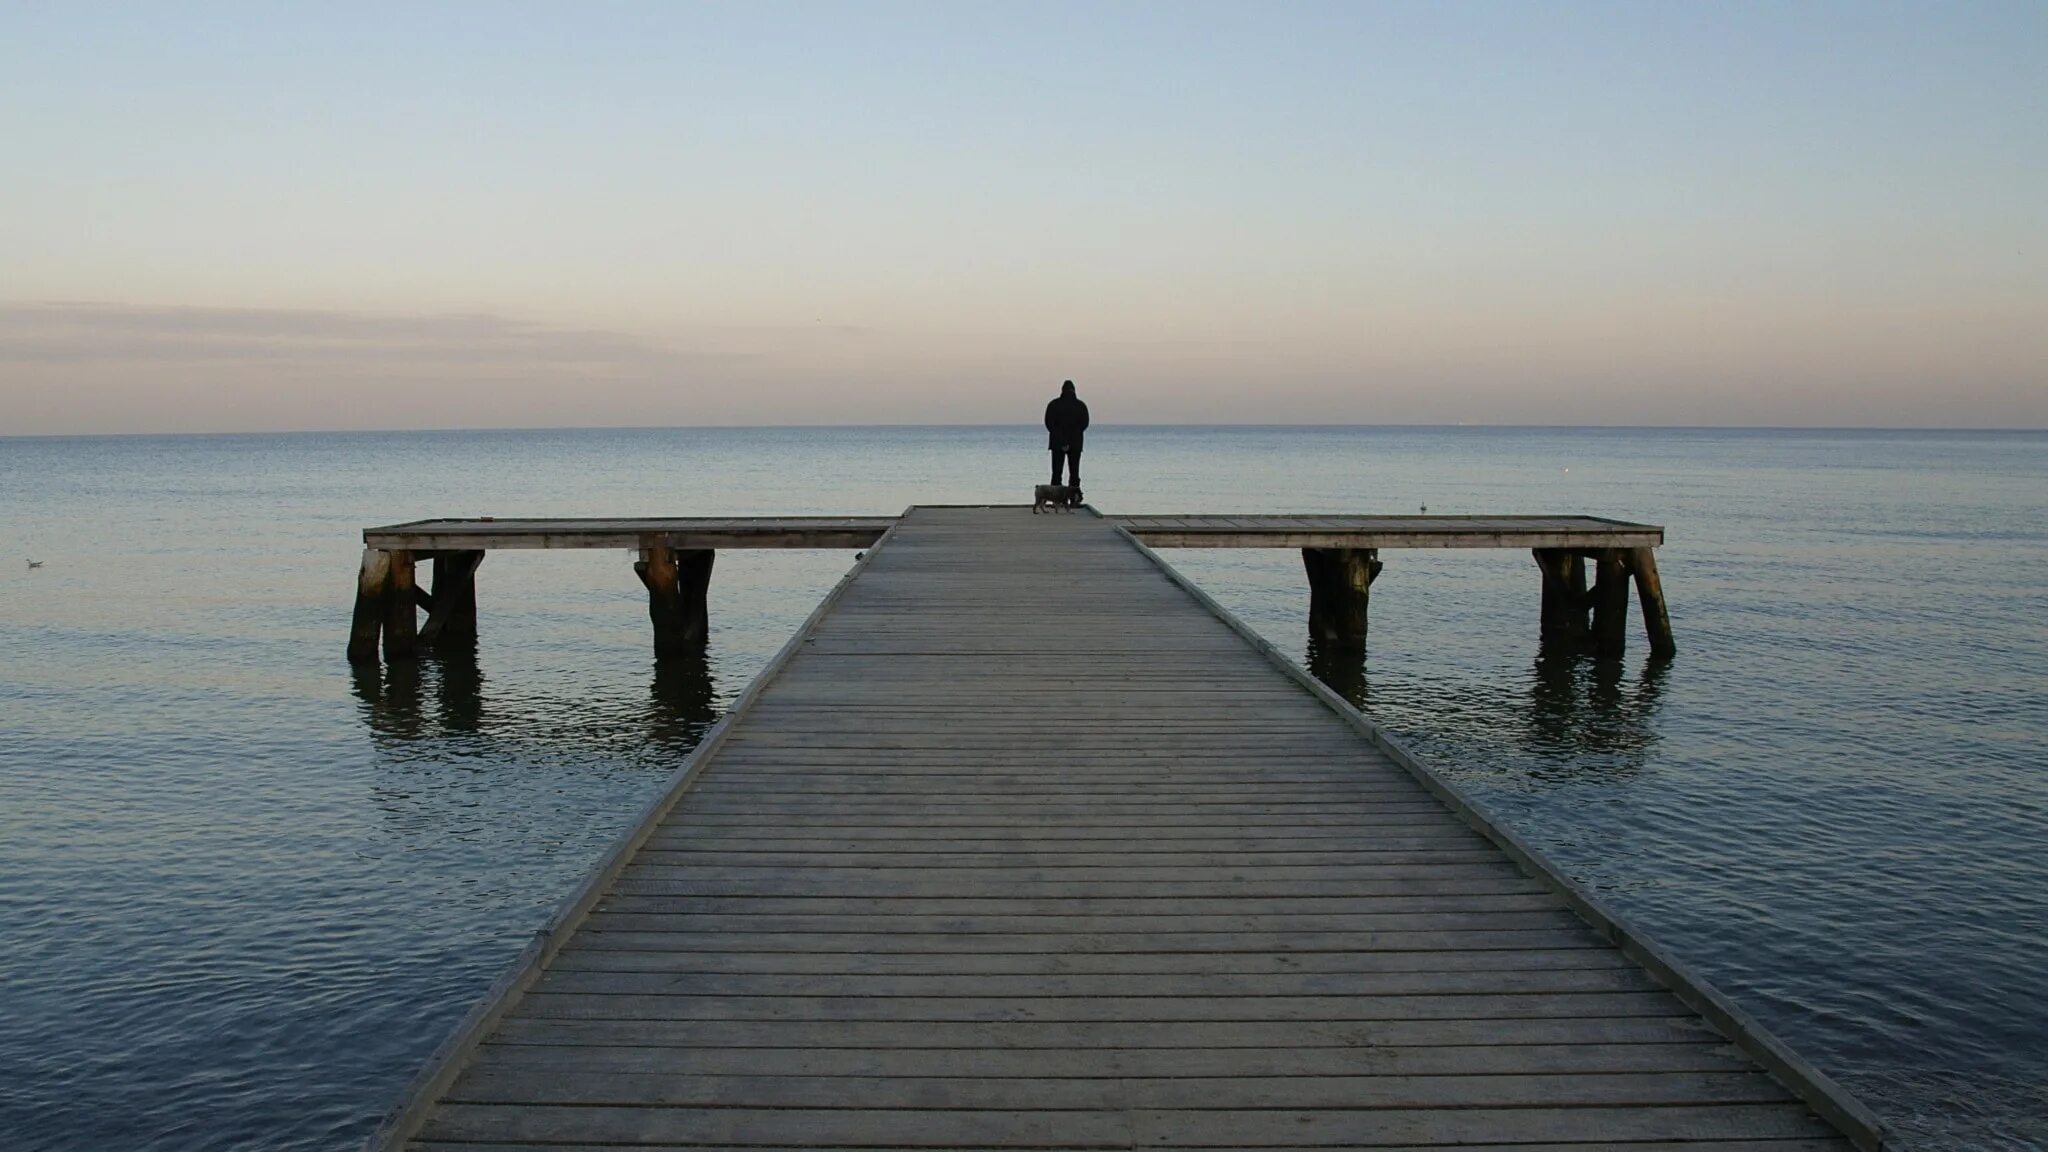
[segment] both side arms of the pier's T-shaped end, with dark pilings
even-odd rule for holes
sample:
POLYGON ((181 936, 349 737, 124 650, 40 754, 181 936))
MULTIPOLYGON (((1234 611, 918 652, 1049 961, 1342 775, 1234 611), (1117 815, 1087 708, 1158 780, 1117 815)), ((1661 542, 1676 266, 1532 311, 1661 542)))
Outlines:
MULTIPOLYGON (((711 568, 721 547, 868 547, 895 517, 473 519, 414 521, 362 533, 348 660, 412 660, 422 648, 473 644, 475 574, 487 549, 633 549, 662 658, 702 648, 711 568), (414 568, 432 560, 434 586, 414 568), (420 623, 426 611, 426 623, 420 623)), ((1151 547, 1296 547, 1309 576, 1309 631, 1325 648, 1362 650, 1380 549, 1526 547, 1542 574, 1540 635, 1548 650, 1618 658, 1628 586, 1642 603, 1651 654, 1671 656, 1657 578, 1663 529, 1599 517, 1110 517, 1151 547), (1587 586, 1587 564, 1597 580, 1587 586)))

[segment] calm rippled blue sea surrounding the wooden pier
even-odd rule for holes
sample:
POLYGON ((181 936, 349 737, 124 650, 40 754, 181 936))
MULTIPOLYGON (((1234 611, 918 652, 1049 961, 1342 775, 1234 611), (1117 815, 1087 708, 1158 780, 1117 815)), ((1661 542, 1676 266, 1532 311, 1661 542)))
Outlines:
MULTIPOLYGON (((707 687, 629 556, 492 553, 473 660, 360 676, 362 527, 1020 502, 1040 443, 0 439, 0 1142, 356 1144, 852 562, 721 553, 707 687)), ((1538 660, 1526 553, 1395 551, 1343 691, 1905 1146, 2048 1144, 2048 435, 1102 426, 1085 469, 1667 525, 1675 662, 1538 660)), ((1296 553, 1167 558, 1303 652, 1296 553)))

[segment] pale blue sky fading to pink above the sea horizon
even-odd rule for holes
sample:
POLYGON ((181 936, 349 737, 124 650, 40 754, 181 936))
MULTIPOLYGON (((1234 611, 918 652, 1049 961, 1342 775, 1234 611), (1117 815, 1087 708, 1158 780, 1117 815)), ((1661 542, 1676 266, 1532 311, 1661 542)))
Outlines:
POLYGON ((2048 426, 2048 4, 0 0, 0 435, 2048 426))

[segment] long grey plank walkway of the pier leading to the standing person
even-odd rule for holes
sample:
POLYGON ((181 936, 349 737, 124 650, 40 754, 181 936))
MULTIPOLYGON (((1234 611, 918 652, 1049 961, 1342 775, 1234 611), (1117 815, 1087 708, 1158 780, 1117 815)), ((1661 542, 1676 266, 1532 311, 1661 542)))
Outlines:
POLYGON ((1882 1144, 1137 533, 889 525, 373 1144, 1882 1144))

